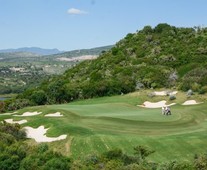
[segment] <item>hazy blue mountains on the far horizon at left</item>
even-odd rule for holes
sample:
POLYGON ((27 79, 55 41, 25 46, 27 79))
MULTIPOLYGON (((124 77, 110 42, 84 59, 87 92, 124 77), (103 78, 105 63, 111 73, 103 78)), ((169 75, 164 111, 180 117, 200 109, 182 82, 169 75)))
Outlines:
POLYGON ((13 53, 13 52, 29 52, 29 53, 35 53, 39 55, 52 55, 52 54, 59 54, 64 51, 59 51, 58 49, 43 49, 39 47, 23 47, 23 48, 17 48, 17 49, 3 49, 0 50, 0 53, 13 53))

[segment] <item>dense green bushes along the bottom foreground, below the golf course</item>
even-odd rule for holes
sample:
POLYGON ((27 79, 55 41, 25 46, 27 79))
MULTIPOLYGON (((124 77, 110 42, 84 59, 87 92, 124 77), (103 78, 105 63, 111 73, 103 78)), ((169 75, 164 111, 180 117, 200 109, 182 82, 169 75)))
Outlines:
POLYGON ((97 154, 87 154, 84 159, 64 156, 49 149, 47 144, 30 146, 26 143, 25 132, 18 124, 0 123, 0 169, 1 170, 196 170, 207 168, 207 155, 195 155, 193 162, 171 161, 156 163, 147 160, 153 150, 134 147, 134 154, 129 155, 121 149, 113 149, 97 154))

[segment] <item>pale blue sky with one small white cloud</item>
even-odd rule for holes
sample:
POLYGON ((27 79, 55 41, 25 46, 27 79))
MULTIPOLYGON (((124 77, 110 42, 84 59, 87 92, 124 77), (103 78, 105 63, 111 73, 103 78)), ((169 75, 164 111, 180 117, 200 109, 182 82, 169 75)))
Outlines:
POLYGON ((145 25, 207 25, 207 0, 0 0, 0 49, 111 45, 145 25))

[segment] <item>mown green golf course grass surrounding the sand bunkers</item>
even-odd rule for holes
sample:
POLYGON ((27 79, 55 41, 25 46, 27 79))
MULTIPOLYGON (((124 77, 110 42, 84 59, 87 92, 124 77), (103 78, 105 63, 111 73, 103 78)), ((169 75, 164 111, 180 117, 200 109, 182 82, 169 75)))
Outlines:
MULTIPOLYGON (((64 105, 25 108, 25 111, 42 111, 39 116, 27 117, 30 125, 50 127, 48 136, 68 134, 67 140, 50 145, 65 154, 82 157, 93 152, 104 152, 112 148, 122 148, 132 153, 136 145, 147 145, 156 150, 150 157, 156 161, 190 159, 195 153, 207 149, 207 105, 182 106, 187 100, 179 92, 173 102, 172 116, 162 116, 161 109, 137 107, 146 100, 168 100, 168 97, 147 97, 147 92, 129 95, 104 97, 64 105), (44 114, 60 111, 61 118, 45 118, 44 114), (60 145, 61 144, 61 145, 60 145)), ((205 101, 206 96, 193 96, 191 99, 205 101)), ((9 118, 11 116, 0 116, 9 118)), ((15 117, 15 120, 23 118, 15 117)), ((33 143, 32 141, 30 141, 33 143)))

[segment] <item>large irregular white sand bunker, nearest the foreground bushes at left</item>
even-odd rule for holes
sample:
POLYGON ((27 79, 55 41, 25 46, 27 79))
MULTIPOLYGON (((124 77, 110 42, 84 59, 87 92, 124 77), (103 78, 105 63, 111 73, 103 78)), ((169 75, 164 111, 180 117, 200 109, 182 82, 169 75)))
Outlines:
POLYGON ((59 137, 47 137, 45 133, 48 129, 45 129, 44 126, 40 126, 37 129, 32 127, 24 127, 27 133, 27 138, 32 138, 36 142, 53 142, 58 140, 63 140, 67 138, 67 135, 60 135, 59 137))

